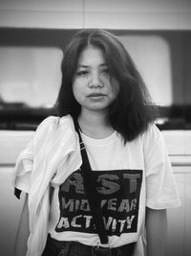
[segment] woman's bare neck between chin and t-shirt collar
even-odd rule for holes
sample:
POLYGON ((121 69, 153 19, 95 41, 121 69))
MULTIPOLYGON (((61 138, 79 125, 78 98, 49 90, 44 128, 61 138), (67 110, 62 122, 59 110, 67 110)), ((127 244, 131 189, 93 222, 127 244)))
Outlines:
POLYGON ((95 139, 103 139, 114 132, 105 113, 96 111, 81 113, 78 118, 79 127, 82 132, 95 139))

